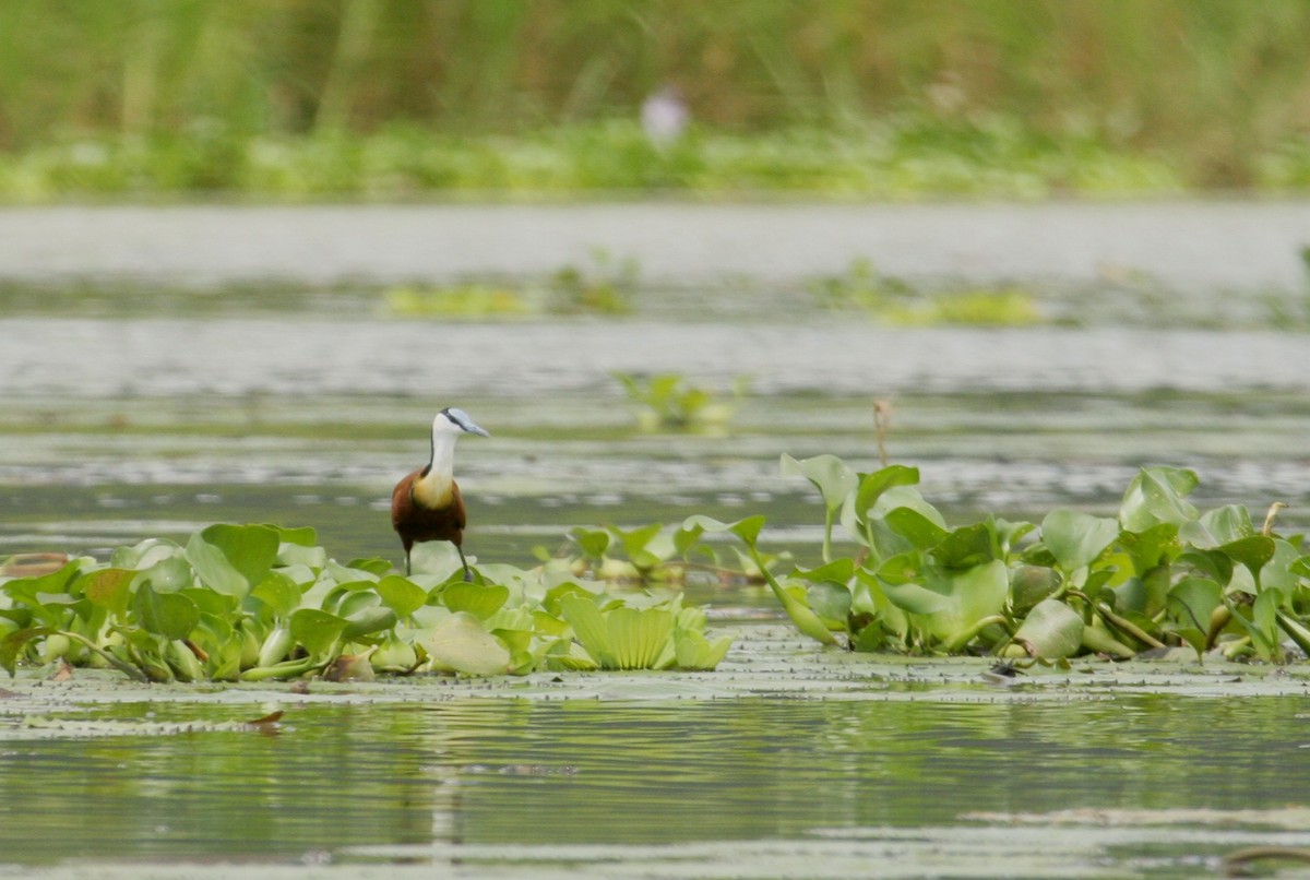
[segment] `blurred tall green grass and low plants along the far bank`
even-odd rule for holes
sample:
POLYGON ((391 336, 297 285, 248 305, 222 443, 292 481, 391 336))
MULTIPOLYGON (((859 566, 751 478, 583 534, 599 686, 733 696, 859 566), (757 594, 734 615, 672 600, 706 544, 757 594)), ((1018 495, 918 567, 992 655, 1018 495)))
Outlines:
POLYGON ((1306 0, 5 0, 0 198, 1293 191, 1307 37, 1306 0))

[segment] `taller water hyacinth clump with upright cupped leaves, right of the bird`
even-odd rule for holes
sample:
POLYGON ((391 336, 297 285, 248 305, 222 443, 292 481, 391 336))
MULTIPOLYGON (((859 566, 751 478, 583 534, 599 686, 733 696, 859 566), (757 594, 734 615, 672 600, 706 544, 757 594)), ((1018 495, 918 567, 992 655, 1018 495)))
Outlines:
MULTIPOLYGON (((1191 470, 1142 469, 1117 517, 1053 511, 950 528, 918 470, 858 473, 833 456, 782 457, 824 503, 823 564, 765 568, 791 621, 857 651, 1128 659, 1187 646, 1197 657, 1284 661, 1310 653, 1310 557, 1302 537, 1256 528, 1230 504, 1200 512, 1191 470), (840 524, 854 553, 838 555, 840 524)), ((688 525, 731 532, 760 558, 762 517, 688 525)))

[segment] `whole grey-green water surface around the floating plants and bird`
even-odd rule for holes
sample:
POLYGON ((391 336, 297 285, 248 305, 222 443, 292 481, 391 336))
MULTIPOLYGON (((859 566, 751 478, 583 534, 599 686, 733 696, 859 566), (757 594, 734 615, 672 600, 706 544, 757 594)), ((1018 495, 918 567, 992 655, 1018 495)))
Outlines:
MULTIPOLYGON (((276 521, 341 559, 398 560, 390 487, 444 405, 494 435, 456 460, 486 560, 690 513, 765 513, 768 549, 815 560, 819 499, 778 456, 874 468, 879 399, 892 460, 921 468, 952 524, 1112 513, 1137 468, 1169 464, 1199 470, 1201 507, 1259 519, 1281 500, 1280 525, 1303 532, 1306 342, 1269 297, 1303 296, 1310 215, 1187 207, 0 212, 0 275, 22 282, 0 289, 0 555, 276 521), (641 258, 633 314, 406 320, 377 289, 553 271, 596 245, 641 258), (1061 321, 819 310, 804 279, 862 257, 1028 279, 1061 321), (722 433, 651 435, 613 372, 751 390, 722 433)), ((777 610, 758 589, 690 597, 719 622, 777 610)), ((574 690, 26 682, 0 693, 0 876, 1193 876, 1246 843, 1310 843, 1298 677, 1239 698, 1230 678, 1002 693, 979 684, 985 661, 951 688, 846 667, 817 681, 807 646, 753 655, 762 636, 743 632, 719 673, 574 690), (38 698, 81 727, 24 727, 38 698), (276 731, 206 727, 269 698, 287 708, 276 731)))

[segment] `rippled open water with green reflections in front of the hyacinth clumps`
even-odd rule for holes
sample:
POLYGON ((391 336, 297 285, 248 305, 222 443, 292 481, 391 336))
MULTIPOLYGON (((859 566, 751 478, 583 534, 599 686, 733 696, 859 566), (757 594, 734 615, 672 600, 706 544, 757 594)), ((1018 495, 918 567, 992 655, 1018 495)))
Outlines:
MULTIPOLYGON (((296 706, 278 736, 0 739, 0 858, 299 859, 359 845, 791 838, 971 811, 1281 808, 1310 782, 1303 710, 1149 695, 461 699, 296 706)), ((215 716, 93 716, 151 711, 215 716)))

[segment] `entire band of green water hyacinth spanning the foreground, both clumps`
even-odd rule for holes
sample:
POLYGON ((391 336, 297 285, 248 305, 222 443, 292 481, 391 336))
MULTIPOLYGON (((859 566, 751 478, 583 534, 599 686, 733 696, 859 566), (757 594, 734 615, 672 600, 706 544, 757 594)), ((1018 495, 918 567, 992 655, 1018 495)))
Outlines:
POLYGON ((574 529, 565 555, 481 564, 474 583, 444 545, 424 546, 422 574, 403 578, 384 559, 330 559, 312 529, 219 524, 185 546, 118 547, 106 563, 10 560, 0 665, 138 681, 714 669, 731 639, 711 639, 703 612, 683 605, 693 571, 765 583, 824 646, 989 655, 998 676, 1078 656, 1310 655, 1303 537, 1275 530, 1280 504, 1263 525, 1238 504, 1199 511, 1191 470, 1142 469, 1116 517, 1057 509, 1040 524, 989 515, 958 528, 918 491, 916 468, 783 456, 782 470, 823 499, 817 567, 765 553, 762 516, 574 529), (838 553, 838 526, 852 553, 838 553))

